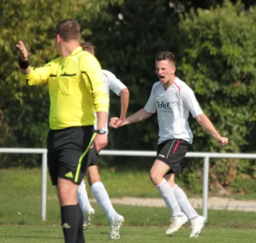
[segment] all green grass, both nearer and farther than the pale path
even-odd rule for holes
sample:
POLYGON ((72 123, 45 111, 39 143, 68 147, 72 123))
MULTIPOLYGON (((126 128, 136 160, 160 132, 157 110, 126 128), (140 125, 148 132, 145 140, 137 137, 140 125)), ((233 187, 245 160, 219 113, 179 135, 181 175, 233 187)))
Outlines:
MULTIPOLYGON (((151 185, 148 173, 101 173, 111 197, 159 197, 151 185)), ((57 243, 63 242, 60 210, 55 188, 48 180, 47 221, 40 219, 40 169, 0 170, 0 242, 1 243, 57 243)), ((90 190, 89 190, 90 191, 90 190)), ((198 239, 189 239, 188 225, 171 238, 165 236, 170 212, 161 207, 132 207, 114 205, 125 217, 119 242, 256 242, 256 213, 243 211, 208 210, 208 222, 198 239)), ((93 227, 85 232, 87 242, 108 241, 108 220, 97 204, 93 227)), ((201 213, 201 210, 199 210, 201 213)))

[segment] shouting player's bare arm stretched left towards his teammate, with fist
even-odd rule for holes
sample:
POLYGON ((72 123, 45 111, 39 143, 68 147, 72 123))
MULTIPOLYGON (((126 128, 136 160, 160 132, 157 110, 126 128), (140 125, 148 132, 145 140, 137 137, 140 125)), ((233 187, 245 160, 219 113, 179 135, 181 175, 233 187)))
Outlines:
MULTIPOLYGON (((144 108, 140 109, 139 111, 137 111, 134 114, 127 117, 126 120, 119 126, 125 126, 125 125, 136 123, 139 121, 144 121, 147 118, 151 117, 151 115, 152 115, 152 113, 146 111, 144 108)), ((118 120, 118 117, 111 118, 109 126, 111 126, 112 128, 118 128, 119 126, 115 125, 116 120, 118 120)))

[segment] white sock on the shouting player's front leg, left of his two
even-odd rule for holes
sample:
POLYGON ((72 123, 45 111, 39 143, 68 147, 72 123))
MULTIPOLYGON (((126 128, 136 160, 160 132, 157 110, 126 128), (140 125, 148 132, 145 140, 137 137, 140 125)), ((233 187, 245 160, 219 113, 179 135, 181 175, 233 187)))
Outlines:
POLYGON ((166 205, 172 211, 172 216, 182 216, 183 213, 176 200, 174 191, 171 188, 171 185, 169 185, 169 183, 167 182, 167 180, 163 179, 163 181, 159 185, 157 185, 157 188, 160 191, 161 196, 163 197, 163 200, 165 201, 166 205))

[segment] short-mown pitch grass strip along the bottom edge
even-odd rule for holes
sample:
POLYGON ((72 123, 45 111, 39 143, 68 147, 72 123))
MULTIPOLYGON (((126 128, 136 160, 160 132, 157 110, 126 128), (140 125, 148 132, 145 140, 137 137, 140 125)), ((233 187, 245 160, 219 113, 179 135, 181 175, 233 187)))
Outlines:
MULTIPOLYGON (((210 242, 210 243, 249 243, 255 242, 255 231, 249 229, 205 228, 197 239, 190 239, 188 228, 182 228, 174 236, 165 236, 164 228, 123 227, 119 243, 169 243, 169 242, 210 242)), ((108 227, 91 227, 85 231, 86 242, 108 242, 108 227)), ((1 243, 63 243, 59 227, 28 225, 0 227, 1 243)))

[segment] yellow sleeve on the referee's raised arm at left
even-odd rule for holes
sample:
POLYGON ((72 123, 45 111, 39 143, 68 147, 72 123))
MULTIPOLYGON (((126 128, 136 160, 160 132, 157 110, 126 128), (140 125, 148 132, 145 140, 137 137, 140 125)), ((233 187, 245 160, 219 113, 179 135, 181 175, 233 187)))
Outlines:
POLYGON ((27 81, 29 85, 38 85, 47 83, 51 74, 51 62, 45 64, 42 67, 30 67, 31 71, 29 74, 24 75, 20 72, 21 80, 27 81))

